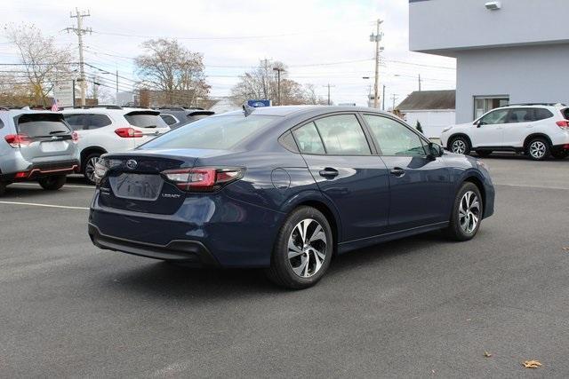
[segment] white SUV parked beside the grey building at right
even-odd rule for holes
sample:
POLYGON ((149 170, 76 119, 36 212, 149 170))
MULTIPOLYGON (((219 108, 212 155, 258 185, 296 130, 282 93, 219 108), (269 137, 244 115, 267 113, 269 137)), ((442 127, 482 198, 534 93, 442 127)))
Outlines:
POLYGON ((475 122, 443 130, 441 142, 448 150, 480 156, 494 151, 524 152, 536 161, 569 155, 569 107, 562 104, 519 104, 500 107, 475 122))

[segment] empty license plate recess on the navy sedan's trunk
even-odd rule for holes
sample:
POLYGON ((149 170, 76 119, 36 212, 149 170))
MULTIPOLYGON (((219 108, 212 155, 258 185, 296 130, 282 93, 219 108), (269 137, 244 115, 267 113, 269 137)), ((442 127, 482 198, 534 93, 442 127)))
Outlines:
POLYGON ((156 201, 164 180, 159 175, 122 173, 108 178, 116 197, 122 199, 156 201))

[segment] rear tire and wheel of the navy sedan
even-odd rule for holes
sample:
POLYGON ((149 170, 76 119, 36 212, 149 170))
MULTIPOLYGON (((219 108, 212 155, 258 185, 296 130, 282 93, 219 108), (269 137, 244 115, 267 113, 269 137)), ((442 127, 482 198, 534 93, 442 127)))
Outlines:
POLYGON ((315 285, 330 265, 333 243, 330 224, 320 211, 312 207, 294 209, 276 237, 268 279, 290 289, 315 285))

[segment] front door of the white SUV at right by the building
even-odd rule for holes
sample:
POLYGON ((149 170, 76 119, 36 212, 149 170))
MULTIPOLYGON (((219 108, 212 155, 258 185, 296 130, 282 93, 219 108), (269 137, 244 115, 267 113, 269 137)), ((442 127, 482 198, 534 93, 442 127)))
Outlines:
POLYGON ((503 130, 509 109, 496 109, 474 122, 470 140, 473 147, 503 146, 503 130))

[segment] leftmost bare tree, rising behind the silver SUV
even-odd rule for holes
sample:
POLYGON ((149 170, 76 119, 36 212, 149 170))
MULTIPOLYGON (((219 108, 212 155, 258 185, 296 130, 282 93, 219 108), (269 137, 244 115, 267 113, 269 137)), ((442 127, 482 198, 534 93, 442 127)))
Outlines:
POLYGON ((53 84, 70 78, 72 58, 69 47, 58 47, 54 37, 44 36, 31 24, 5 25, 4 32, 18 49, 22 64, 18 70, 14 69, 14 83, 28 83, 28 102, 48 106, 46 98, 53 84))

